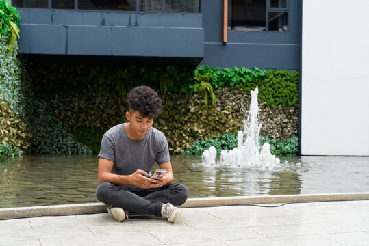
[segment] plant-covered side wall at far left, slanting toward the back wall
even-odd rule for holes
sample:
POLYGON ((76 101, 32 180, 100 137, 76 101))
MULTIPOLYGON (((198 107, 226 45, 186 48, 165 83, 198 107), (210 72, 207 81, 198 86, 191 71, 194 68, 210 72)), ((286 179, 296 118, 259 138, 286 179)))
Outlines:
POLYGON ((0 156, 22 151, 92 152, 73 139, 49 105, 34 94, 25 63, 16 52, 18 12, 5 0, 0 0, 0 10, 0 156))

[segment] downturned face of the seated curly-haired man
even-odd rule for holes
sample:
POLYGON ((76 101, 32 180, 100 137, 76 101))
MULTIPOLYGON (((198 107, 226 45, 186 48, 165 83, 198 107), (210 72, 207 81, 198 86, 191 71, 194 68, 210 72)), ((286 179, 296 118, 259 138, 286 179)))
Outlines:
POLYGON ((129 120, 129 131, 133 137, 142 139, 153 125, 154 116, 144 117, 138 111, 125 113, 129 120))

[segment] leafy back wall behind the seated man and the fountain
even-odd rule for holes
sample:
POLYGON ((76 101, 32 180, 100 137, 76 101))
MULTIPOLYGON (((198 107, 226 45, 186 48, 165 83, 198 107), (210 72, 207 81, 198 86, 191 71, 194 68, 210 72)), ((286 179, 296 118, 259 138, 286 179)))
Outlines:
POLYGON ((108 128, 126 121, 125 97, 138 85, 153 87, 163 99, 164 111, 155 118, 154 127, 166 134, 171 153, 200 154, 210 143, 233 148, 249 108, 250 90, 256 86, 264 124, 261 141, 270 142, 275 154, 297 150, 295 71, 86 64, 28 64, 27 68, 39 100, 93 152, 99 152, 108 128))

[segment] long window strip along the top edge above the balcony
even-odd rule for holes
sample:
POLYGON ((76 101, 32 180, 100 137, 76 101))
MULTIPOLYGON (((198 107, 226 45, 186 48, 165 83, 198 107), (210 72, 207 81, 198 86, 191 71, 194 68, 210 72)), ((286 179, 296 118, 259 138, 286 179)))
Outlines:
POLYGON ((12 0, 17 8, 121 10, 140 12, 199 12, 200 0, 12 0), (138 6, 138 8, 137 8, 138 6))

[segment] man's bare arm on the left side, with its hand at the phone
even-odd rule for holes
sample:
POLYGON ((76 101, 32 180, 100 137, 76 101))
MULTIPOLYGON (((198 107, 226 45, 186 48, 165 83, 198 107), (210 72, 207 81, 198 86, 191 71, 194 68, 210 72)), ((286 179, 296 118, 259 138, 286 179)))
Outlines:
POLYGON ((115 185, 132 184, 140 188, 154 188, 160 186, 155 180, 145 177, 148 174, 144 172, 144 170, 136 170, 136 172, 131 175, 112 174, 113 165, 114 162, 108 159, 99 158, 99 169, 97 173, 99 183, 110 182, 115 185))

